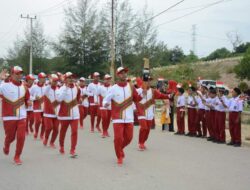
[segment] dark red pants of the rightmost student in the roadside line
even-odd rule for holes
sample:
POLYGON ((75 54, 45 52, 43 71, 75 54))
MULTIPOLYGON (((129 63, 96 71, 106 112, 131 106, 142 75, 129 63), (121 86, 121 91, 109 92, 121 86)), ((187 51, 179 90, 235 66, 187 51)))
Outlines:
POLYGON ((239 112, 229 112, 229 132, 231 142, 241 143, 241 118, 239 112))

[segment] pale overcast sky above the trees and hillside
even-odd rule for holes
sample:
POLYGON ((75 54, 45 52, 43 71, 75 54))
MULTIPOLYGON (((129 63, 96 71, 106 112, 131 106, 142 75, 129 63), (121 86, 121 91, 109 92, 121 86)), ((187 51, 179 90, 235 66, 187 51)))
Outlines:
MULTIPOLYGON (((110 0, 99 0, 97 8, 110 0)), ((119 0, 118 0, 119 1, 119 0)), ((181 0, 130 0, 135 12, 142 11, 147 4, 149 11, 156 15, 181 0)), ((29 25, 20 15, 36 15, 42 22, 44 34, 54 40, 64 26, 63 9, 77 0, 1 0, 0 2, 0 57, 5 57, 9 47, 29 25)), ((250 1, 249 0, 184 0, 178 6, 153 19, 158 31, 158 41, 165 42, 169 48, 181 47, 186 54, 193 49, 193 30, 195 30, 195 53, 207 56, 217 48, 232 50, 227 34, 237 33, 242 42, 250 42, 250 1), (219 2, 216 5, 199 9, 219 2), (190 14, 194 11, 194 14, 190 14), (188 15, 190 14, 190 15, 188 15), (186 15, 186 16, 185 16, 186 15), (178 19, 180 18, 180 19, 178 19)))

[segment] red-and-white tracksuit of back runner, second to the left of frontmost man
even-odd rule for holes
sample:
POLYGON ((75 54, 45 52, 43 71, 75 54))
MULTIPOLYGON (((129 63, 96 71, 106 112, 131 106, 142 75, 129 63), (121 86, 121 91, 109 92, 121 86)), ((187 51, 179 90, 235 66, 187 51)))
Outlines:
POLYGON ((94 131, 95 117, 97 116, 96 128, 100 131, 99 125, 101 122, 101 114, 99 110, 99 82, 92 82, 87 87, 88 100, 89 100, 89 111, 91 120, 91 131, 94 131))

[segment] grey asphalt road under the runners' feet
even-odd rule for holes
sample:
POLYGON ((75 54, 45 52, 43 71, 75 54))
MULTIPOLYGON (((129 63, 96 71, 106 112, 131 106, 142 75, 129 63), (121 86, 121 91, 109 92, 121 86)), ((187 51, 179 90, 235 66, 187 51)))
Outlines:
MULTIPOLYGON (((1 125, 2 126, 2 125, 1 125)), ((137 150, 138 127, 126 148, 122 167, 117 166, 111 137, 89 132, 87 118, 79 129, 78 158, 69 157, 70 131, 65 150, 45 148, 26 138, 23 165, 13 164, 15 144, 9 156, 0 152, 0 190, 249 190, 250 148, 228 147, 204 139, 175 136, 152 130, 148 149, 137 150)), ((4 139, 0 127, 0 147, 4 139)), ((58 139, 57 139, 58 140, 58 139)), ((57 141, 58 146, 58 141, 57 141)))

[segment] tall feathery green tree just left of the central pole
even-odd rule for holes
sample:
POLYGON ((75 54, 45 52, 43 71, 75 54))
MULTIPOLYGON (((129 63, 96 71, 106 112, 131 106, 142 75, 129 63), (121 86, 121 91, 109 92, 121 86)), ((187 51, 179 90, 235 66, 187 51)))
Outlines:
POLYGON ((64 31, 54 44, 58 57, 63 57, 66 63, 62 72, 70 70, 80 76, 105 68, 107 50, 95 3, 79 0, 77 6, 66 9, 64 31))

